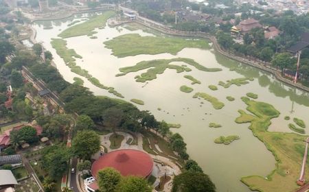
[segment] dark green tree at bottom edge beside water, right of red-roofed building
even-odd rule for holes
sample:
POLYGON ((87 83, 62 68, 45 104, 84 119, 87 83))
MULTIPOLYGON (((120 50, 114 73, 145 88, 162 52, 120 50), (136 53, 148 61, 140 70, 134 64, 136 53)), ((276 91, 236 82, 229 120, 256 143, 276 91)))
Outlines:
POLYGON ((175 176, 172 192, 215 192, 216 186, 205 173, 185 171, 175 176))

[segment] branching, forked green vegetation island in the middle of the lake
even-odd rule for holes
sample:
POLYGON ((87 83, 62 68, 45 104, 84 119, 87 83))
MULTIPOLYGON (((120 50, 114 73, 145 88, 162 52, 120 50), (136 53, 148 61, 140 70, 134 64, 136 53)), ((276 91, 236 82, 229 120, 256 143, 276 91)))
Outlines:
POLYGON ((204 67, 203 65, 198 64, 197 62, 189 58, 174 58, 170 60, 161 59, 161 60, 141 61, 138 62, 135 66, 120 68, 119 71, 122 73, 117 74, 116 77, 148 69, 145 73, 141 73, 141 75, 135 76, 137 82, 146 82, 150 80, 155 80, 157 78, 157 75, 164 73, 166 69, 175 69, 177 73, 182 73, 184 71, 187 72, 191 71, 191 69, 188 67, 179 66, 177 64, 170 64, 171 62, 185 62, 186 64, 190 64, 191 66, 195 67, 200 71, 215 72, 221 70, 216 68, 210 69, 204 67))

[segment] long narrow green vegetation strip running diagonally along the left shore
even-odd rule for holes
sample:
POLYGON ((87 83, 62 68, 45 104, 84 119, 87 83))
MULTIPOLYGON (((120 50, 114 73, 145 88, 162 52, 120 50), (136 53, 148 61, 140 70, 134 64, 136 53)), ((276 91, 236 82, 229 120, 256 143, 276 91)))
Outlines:
POLYGON ((76 53, 74 49, 68 49, 66 40, 63 40, 60 38, 52 38, 51 44, 52 44, 52 47, 56 49, 58 56, 60 56, 60 58, 62 58, 65 61, 65 64, 67 64, 67 66, 71 69, 73 73, 76 73, 82 77, 86 77, 87 80, 91 82, 91 84, 98 86, 99 88, 108 90, 108 93, 112 93, 113 95, 116 95, 117 97, 124 98, 122 94, 115 91, 115 88, 104 86, 104 84, 101 84, 97 78, 92 77, 92 75, 90 75, 88 71, 77 66, 76 58, 82 58, 82 56, 78 55, 78 53, 76 53))

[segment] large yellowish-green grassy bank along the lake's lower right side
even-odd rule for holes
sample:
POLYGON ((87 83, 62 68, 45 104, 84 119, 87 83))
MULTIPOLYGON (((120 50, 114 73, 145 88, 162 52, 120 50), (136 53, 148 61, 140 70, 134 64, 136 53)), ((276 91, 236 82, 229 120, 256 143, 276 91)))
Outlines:
MULTIPOLYGON (((268 176, 248 176, 242 178, 242 182, 253 191, 295 191, 298 188, 296 181, 299 178, 299 169, 305 149, 304 141, 307 136, 295 133, 268 132, 271 119, 279 117, 279 111, 275 110, 271 104, 264 102, 251 99, 242 99, 242 101, 247 104, 247 110, 253 115, 239 110, 241 115, 236 119, 236 123, 250 122, 249 129, 266 145, 277 160, 275 170, 270 170, 268 176)), ((308 164, 305 175, 309 175, 308 164)))

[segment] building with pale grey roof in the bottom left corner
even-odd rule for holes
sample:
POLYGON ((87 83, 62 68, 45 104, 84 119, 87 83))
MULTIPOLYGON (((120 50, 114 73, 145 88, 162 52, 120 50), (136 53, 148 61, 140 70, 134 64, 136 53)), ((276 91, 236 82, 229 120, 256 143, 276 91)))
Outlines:
POLYGON ((14 192, 14 187, 17 183, 12 171, 0 170, 0 192, 14 192))

